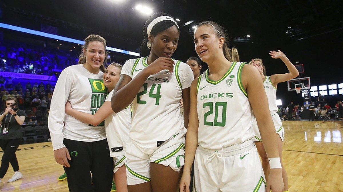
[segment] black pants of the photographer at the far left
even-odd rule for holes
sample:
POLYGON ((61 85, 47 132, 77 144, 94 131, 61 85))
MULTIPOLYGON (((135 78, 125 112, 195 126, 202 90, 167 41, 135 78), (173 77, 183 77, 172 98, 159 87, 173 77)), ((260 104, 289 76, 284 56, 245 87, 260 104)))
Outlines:
POLYGON ((19 171, 19 164, 15 151, 20 145, 21 139, 0 139, 0 147, 3 151, 0 167, 0 178, 3 178, 11 163, 13 170, 19 171))

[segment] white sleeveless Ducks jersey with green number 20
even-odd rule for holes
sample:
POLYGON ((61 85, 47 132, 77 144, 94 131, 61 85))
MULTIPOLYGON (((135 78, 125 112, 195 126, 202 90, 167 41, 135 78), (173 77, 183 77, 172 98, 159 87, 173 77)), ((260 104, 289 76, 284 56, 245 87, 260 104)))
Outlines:
POLYGON ((218 81, 208 78, 208 70, 199 77, 197 110, 201 147, 216 150, 254 137, 251 128, 254 115, 240 77, 245 64, 233 62, 218 81))

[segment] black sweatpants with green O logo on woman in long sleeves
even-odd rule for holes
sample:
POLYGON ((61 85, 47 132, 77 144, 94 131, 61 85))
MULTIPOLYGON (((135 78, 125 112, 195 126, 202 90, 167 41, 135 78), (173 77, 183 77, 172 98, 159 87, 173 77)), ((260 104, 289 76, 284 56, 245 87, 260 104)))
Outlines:
POLYGON ((111 191, 113 158, 109 154, 107 139, 94 142, 64 139, 63 143, 71 158, 68 160, 70 167, 63 167, 68 177, 69 191, 111 191))

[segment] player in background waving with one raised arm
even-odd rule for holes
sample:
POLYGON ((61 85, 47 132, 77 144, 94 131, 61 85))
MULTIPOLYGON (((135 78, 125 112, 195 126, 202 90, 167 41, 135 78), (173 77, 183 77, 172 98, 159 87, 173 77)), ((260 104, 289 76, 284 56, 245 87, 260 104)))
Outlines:
MULTIPOLYGON (((276 87, 278 83, 296 78, 299 75, 299 72, 291 63, 291 61, 286 57, 286 55, 282 53, 280 50, 277 52, 270 51, 269 55, 271 55, 271 57, 274 59, 280 58, 286 65, 289 72, 285 74, 273 74, 272 76, 266 76, 265 67, 263 65, 262 59, 259 59, 259 58, 251 59, 249 64, 254 65, 259 70, 260 75, 261 75, 260 79, 262 79, 263 81, 264 91, 268 97, 269 111, 270 111, 272 120, 274 122, 276 134, 278 135, 277 141, 279 144, 278 145, 279 156, 280 156, 280 161, 281 161, 281 166, 282 166, 282 178, 283 178, 283 183, 285 186, 284 191, 288 191, 288 177, 287 177, 286 169, 282 164, 282 142, 283 142, 283 136, 284 136, 284 129, 282 127, 279 114, 277 114, 278 108, 276 106, 276 87)), ((255 137, 253 138, 253 140, 255 141, 257 150, 261 156, 263 172, 266 178, 268 178, 268 175, 270 172, 268 156, 264 150, 263 142, 261 142, 262 139, 261 139, 261 134, 259 131, 260 127, 257 125, 256 120, 252 124, 252 127, 255 132, 255 137)))

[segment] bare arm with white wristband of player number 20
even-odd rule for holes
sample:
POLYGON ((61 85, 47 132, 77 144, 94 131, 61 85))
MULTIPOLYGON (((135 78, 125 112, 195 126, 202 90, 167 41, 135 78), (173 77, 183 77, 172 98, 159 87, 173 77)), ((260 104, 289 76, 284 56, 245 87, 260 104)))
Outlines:
MULTIPOLYGON (((277 136, 269 112, 268 99, 264 91, 261 76, 256 67, 251 65, 245 65, 241 75, 243 86, 248 93, 249 102, 256 116, 257 125, 268 159, 279 158, 277 136)), ((270 169, 266 192, 270 192, 270 189, 273 192, 282 192, 284 189, 281 163, 279 168, 271 167, 270 169)))

